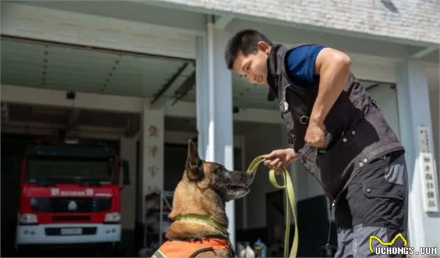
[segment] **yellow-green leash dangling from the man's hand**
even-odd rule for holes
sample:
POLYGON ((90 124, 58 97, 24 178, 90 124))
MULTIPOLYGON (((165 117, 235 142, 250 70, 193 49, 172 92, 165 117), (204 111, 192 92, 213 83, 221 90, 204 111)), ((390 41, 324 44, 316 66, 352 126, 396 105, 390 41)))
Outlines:
MULTIPOLYGON (((253 174, 255 176, 258 165, 260 165, 263 161, 263 156, 258 156, 254 158, 254 160, 252 160, 251 164, 247 168, 247 173, 253 174)), ((286 234, 284 234, 284 257, 294 258, 298 253, 298 221, 296 218, 295 190, 293 188, 291 175, 288 174, 288 170, 286 169, 286 167, 282 167, 281 169, 281 176, 283 176, 284 185, 279 185, 277 179, 275 178, 274 169, 270 169, 269 171, 269 180, 275 188, 286 189, 286 234), (288 207, 291 208, 291 211, 293 213, 293 221, 295 222, 295 235, 293 236, 293 244, 290 255, 288 254, 288 241, 290 240, 291 234, 291 211, 288 209, 288 207)))

